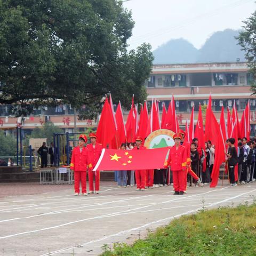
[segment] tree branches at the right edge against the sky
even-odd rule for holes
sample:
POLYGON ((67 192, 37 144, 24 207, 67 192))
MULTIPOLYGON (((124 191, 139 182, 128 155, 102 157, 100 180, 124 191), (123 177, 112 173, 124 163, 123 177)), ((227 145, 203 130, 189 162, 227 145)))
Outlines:
POLYGON ((243 21, 243 23, 245 25, 242 27, 243 29, 236 39, 245 52, 245 59, 248 61, 247 65, 250 68, 254 80, 251 90, 253 94, 256 94, 256 11, 254 11, 250 18, 243 21))

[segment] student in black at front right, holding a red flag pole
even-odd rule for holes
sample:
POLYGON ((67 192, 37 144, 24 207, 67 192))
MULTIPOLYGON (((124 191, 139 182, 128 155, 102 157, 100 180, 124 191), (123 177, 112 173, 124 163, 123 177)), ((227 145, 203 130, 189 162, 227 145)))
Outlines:
POLYGON ((235 166, 238 163, 237 151, 235 147, 235 139, 229 138, 227 140, 228 145, 228 153, 226 153, 228 157, 228 172, 229 172, 229 180, 230 180, 230 187, 237 186, 235 183, 235 166))

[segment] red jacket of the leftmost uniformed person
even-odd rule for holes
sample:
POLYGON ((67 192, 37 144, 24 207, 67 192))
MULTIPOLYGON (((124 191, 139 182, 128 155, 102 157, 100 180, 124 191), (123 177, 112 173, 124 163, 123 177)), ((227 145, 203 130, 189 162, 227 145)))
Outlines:
POLYGON ((80 152, 79 147, 75 147, 72 152, 70 169, 74 171, 85 172, 87 170, 87 165, 89 169, 92 170, 92 162, 89 150, 85 147, 80 152))

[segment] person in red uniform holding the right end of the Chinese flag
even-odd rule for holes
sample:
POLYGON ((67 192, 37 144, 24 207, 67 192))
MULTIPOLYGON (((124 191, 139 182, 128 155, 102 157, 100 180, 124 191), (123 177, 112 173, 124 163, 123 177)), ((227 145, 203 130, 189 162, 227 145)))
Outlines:
POLYGON ((171 166, 173 173, 174 195, 183 195, 186 189, 184 179, 187 168, 187 152, 186 148, 180 145, 182 136, 174 134, 174 146, 170 148, 169 157, 165 166, 171 166))

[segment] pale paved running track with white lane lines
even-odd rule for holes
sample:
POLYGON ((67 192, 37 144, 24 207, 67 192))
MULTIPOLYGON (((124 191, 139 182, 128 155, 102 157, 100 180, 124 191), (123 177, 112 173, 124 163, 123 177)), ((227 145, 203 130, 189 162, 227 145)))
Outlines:
POLYGON ((44 194, 1 197, 0 255, 98 255, 103 244, 132 242, 203 205, 250 203, 256 197, 256 183, 193 187, 184 196, 173 196, 172 187, 140 192, 116 188, 114 182, 101 185, 100 195, 87 197, 73 196, 68 185, 52 185, 54 191, 44 194))

